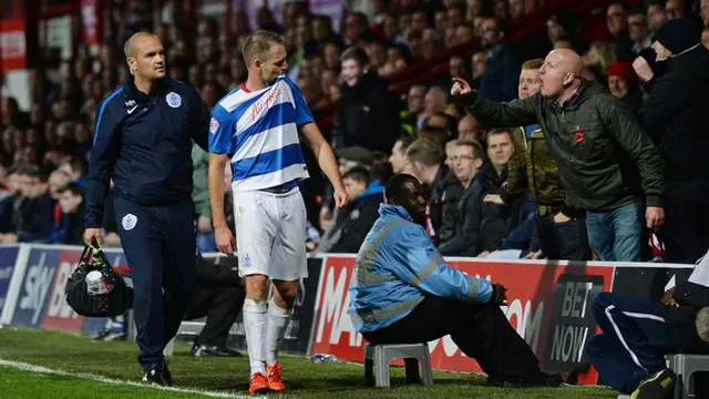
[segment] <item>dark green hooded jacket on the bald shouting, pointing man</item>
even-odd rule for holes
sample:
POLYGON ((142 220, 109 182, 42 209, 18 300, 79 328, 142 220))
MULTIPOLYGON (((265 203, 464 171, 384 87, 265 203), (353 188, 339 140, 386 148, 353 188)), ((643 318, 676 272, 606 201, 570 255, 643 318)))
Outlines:
POLYGON ((645 195, 661 206, 662 161, 649 135, 623 101, 587 80, 564 104, 537 93, 495 103, 476 92, 465 98, 466 111, 491 126, 538 123, 574 206, 592 212, 615 209, 645 195))

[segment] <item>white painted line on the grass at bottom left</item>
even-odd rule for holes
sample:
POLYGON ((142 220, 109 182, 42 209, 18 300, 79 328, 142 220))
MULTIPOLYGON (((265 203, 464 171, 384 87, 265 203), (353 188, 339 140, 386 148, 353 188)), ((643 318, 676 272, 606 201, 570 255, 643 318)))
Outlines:
POLYGON ((56 369, 51 369, 51 368, 43 367, 43 366, 35 366, 35 365, 25 364, 25 362, 22 362, 22 361, 13 361, 13 360, 0 359, 0 367, 2 367, 2 366, 14 368, 14 369, 18 369, 18 370, 23 370, 23 371, 30 371, 30 372, 34 372, 34 374, 54 375, 54 376, 62 376, 62 377, 74 377, 74 378, 90 379, 90 380, 94 380, 94 381, 99 381, 99 382, 105 382, 105 383, 113 383, 113 385, 127 386, 127 387, 154 388, 154 389, 160 389, 160 390, 165 390, 165 391, 173 391, 173 392, 181 392, 181 393, 195 393, 195 395, 202 395, 202 396, 210 397, 210 398, 232 398, 232 399, 250 398, 249 396, 246 396, 246 395, 236 395, 236 393, 227 393, 227 392, 208 391, 208 390, 194 389, 194 388, 175 388, 175 387, 162 387, 162 386, 157 386, 157 385, 147 385, 147 383, 141 383, 141 382, 135 382, 135 381, 120 380, 120 379, 115 379, 115 378, 102 377, 102 376, 99 376, 99 375, 93 375, 93 374, 88 374, 88 372, 73 372, 73 371, 65 371, 65 370, 56 370, 56 369))

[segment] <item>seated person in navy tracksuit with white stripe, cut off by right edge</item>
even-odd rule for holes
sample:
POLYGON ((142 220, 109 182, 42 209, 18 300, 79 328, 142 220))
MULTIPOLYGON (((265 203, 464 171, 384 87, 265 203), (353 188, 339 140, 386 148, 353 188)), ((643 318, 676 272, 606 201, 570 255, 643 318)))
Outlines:
POLYGON ((708 307, 709 253, 661 301, 598 294, 592 310, 603 334, 588 342, 588 357, 603 383, 633 398, 666 398, 676 376, 665 355, 709 354, 708 307))

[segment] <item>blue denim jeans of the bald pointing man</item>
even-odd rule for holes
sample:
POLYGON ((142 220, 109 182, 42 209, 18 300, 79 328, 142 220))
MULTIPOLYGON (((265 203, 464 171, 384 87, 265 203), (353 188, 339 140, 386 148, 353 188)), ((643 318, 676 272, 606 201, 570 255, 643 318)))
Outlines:
POLYGON ((643 204, 588 212, 588 244, 600 260, 639 262, 643 241, 643 204))

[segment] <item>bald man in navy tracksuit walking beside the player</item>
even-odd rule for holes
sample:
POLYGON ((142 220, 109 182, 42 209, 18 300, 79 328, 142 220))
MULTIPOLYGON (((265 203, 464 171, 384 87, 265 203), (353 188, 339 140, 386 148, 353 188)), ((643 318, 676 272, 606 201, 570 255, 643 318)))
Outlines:
POLYGON ((163 349, 195 291, 192 141, 207 151, 209 111, 192 86, 166 76, 157 37, 136 33, 124 52, 131 74, 96 110, 84 242, 102 245, 113 178, 115 219, 135 293, 143 381, 172 386, 163 349))

